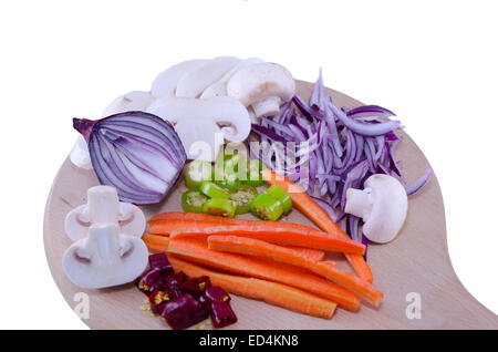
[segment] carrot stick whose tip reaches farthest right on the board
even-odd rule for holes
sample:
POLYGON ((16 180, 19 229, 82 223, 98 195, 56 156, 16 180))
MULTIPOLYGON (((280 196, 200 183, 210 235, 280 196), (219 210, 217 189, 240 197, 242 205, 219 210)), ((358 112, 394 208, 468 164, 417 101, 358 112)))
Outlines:
POLYGON ((384 297, 378 289, 372 286, 372 283, 356 277, 354 273, 338 269, 332 261, 317 262, 287 248, 258 239, 237 236, 209 236, 208 247, 209 249, 218 251, 269 258, 308 269, 346 288, 375 307, 378 307, 384 297))

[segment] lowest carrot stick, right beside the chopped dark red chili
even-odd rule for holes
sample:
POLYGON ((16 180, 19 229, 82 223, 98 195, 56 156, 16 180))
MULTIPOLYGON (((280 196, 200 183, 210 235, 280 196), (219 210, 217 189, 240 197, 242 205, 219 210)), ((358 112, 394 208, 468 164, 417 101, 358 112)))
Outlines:
POLYGON ((169 262, 176 271, 184 271, 187 276, 208 276, 214 286, 218 286, 227 292, 261 300, 299 313, 331 319, 338 306, 286 284, 219 273, 170 256, 169 262))

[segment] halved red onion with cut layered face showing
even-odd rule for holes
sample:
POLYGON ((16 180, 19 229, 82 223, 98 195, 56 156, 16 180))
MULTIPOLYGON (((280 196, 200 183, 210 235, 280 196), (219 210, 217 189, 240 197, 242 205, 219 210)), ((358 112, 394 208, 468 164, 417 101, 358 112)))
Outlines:
POLYGON ((122 201, 159 203, 187 159, 173 126, 144 112, 91 121, 73 118, 89 143, 90 158, 103 185, 114 186, 122 201))

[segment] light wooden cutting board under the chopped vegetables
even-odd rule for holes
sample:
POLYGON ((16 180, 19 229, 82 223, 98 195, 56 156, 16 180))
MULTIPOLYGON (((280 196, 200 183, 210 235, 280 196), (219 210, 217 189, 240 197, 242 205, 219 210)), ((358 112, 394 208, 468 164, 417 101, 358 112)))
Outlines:
MULTIPOLYGON (((298 93, 308 99, 312 84, 298 81, 298 93)), ((338 106, 362 105, 340 92, 329 90, 338 106)), ((409 128, 409 126, 408 126, 409 128)), ((424 154, 404 132, 396 149, 396 159, 408 182, 416 179, 428 166, 424 154)), ((133 283, 101 290, 82 290, 62 271, 61 258, 71 240, 64 234, 64 217, 74 207, 86 203, 86 189, 98 180, 93 170, 76 168, 64 162, 52 185, 44 217, 44 246, 52 276, 68 303, 75 308, 85 292, 92 329, 167 329, 159 318, 141 311, 145 296, 133 283)), ((152 215, 181 210, 183 180, 162 204, 144 206, 152 215)), ((250 218, 250 215, 246 216, 250 218)), ((287 221, 312 225, 298 210, 287 221)), ((330 255, 341 267, 342 256, 330 255)), ((232 308, 239 321, 228 329, 498 329, 498 318, 476 301, 458 281, 448 256, 443 198, 436 176, 409 197, 408 215, 398 237, 387 245, 369 247, 369 263, 374 284, 385 296, 380 308, 364 303, 356 313, 338 309, 331 320, 312 318, 232 294, 232 308), (406 314, 413 296, 419 297, 421 317, 406 314)))

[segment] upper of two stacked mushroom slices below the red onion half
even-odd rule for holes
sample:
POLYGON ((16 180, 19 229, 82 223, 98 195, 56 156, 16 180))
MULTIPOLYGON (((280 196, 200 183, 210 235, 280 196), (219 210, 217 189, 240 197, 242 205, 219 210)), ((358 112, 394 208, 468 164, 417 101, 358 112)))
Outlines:
POLYGON ((65 234, 73 241, 85 238, 93 224, 116 224, 121 232, 141 238, 145 230, 145 216, 129 203, 118 200, 116 188, 95 186, 86 191, 87 204, 71 210, 65 217, 65 234))

